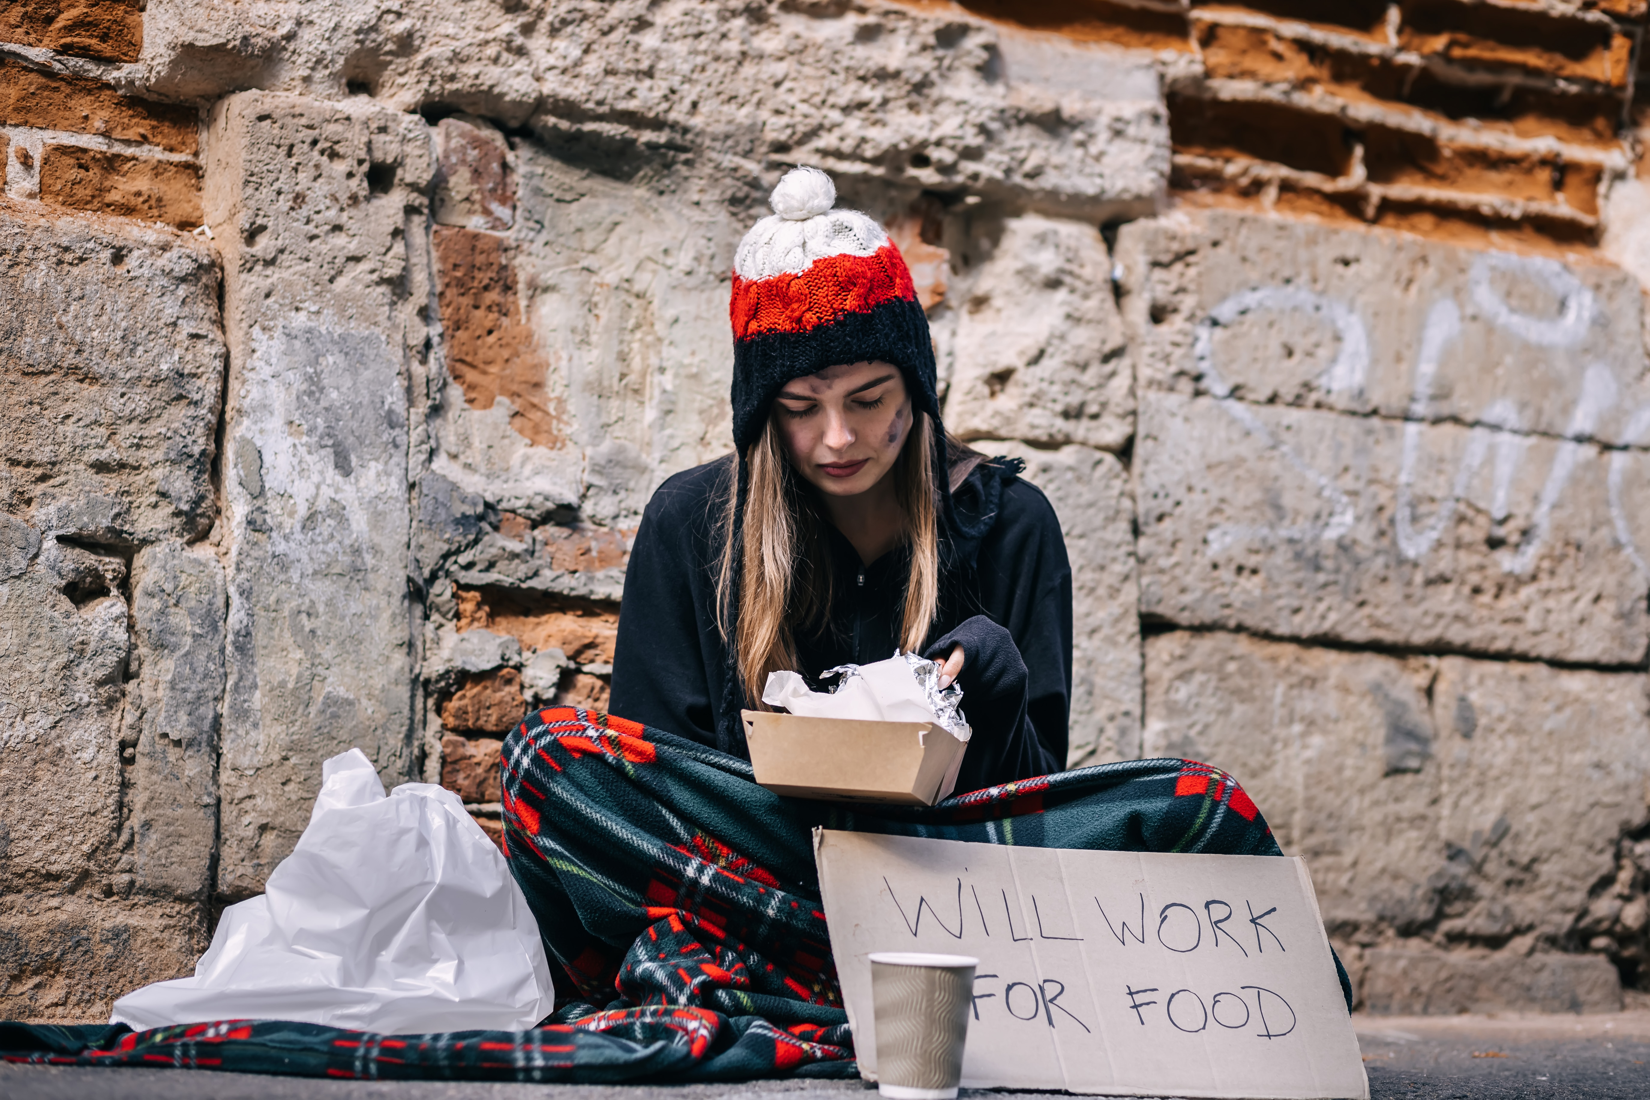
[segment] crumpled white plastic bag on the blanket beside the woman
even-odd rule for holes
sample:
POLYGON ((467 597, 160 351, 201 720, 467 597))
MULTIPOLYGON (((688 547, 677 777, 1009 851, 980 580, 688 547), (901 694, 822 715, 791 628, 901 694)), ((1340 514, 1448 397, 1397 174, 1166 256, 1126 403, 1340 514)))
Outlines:
POLYGON ((125 994, 111 1022, 523 1031, 553 1008, 538 922, 498 846, 450 790, 386 798, 360 749, 322 767, 309 828, 266 889, 223 912, 193 978, 125 994))

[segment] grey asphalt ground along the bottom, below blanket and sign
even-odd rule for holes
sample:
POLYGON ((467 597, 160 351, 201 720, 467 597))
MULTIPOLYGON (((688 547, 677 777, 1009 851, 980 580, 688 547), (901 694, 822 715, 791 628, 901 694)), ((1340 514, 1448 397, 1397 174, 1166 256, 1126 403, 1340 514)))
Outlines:
MULTIPOLYGON (((1358 1016, 1373 1100, 1650 1100, 1650 1011, 1614 1016, 1358 1016)), ((516 1085, 360 1082, 173 1069, 0 1065, 3 1100, 807 1100, 858 1082, 516 1085)), ((977 1100, 1049 1093, 974 1092, 977 1100)))

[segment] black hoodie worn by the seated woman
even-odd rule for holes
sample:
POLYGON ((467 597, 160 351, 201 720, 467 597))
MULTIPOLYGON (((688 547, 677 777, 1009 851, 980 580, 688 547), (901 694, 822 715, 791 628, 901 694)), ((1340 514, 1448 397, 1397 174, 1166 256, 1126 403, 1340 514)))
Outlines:
MULTIPOLYGON (((716 625, 716 523, 731 458, 658 487, 625 569, 610 711, 749 759, 738 714, 719 714, 731 673, 716 625)), ((1064 767, 1071 709, 1071 566, 1043 493, 1016 462, 975 467, 954 493, 949 564, 926 656, 964 646, 962 711, 974 737, 957 793, 1064 767)), ((870 566, 827 524, 837 592, 830 625, 799 637, 804 676, 894 655, 908 549, 870 566)), ((817 686, 817 684, 815 684, 817 686)))

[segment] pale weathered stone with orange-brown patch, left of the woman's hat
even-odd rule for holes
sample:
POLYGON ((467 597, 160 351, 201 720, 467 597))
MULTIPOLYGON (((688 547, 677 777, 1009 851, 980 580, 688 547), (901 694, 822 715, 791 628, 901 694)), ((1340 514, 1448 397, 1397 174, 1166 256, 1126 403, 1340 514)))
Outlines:
POLYGON ((576 508, 634 528, 665 477, 729 449, 726 279, 746 219, 696 181, 658 195, 551 152, 515 153, 513 244, 477 241, 465 267, 455 234, 474 231, 439 231, 464 402, 442 397, 434 468, 535 524, 576 508))

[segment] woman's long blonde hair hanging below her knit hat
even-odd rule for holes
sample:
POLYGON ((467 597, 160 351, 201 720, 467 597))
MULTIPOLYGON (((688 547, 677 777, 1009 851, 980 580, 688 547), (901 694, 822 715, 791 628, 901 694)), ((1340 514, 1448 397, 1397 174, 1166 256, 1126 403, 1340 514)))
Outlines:
MULTIPOLYGON (((908 651, 922 648, 939 610, 939 483, 932 432, 927 414, 916 412, 893 468, 894 495, 906 515, 904 534, 911 549, 899 615, 899 648, 908 651)), ((965 467, 962 473, 967 475, 978 455, 949 435, 945 442, 952 467, 949 480, 959 482, 959 467, 965 467)), ((825 541, 830 519, 812 491, 797 483, 772 417, 751 445, 746 462, 744 523, 739 523, 738 463, 729 467, 716 617, 723 645, 733 645, 738 655, 736 668, 746 698, 766 709, 761 699, 769 673, 797 668, 794 630, 825 622, 837 577, 825 541)))

